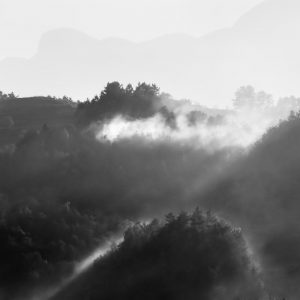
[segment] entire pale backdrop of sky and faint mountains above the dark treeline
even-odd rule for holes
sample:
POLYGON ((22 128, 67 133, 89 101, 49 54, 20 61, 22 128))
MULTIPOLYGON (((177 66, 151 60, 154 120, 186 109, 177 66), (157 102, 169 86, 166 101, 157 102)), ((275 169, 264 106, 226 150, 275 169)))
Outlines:
POLYGON ((245 85, 300 95, 298 0, 0 0, 0 9, 7 93, 84 101, 107 82, 147 82, 218 108, 245 85))

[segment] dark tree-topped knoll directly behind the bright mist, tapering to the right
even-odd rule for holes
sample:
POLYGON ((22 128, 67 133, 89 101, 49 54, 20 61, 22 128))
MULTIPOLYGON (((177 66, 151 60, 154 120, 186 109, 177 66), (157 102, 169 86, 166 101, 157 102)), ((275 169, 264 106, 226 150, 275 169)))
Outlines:
POLYGON ((160 114, 167 125, 176 129, 177 115, 183 112, 190 126, 205 122, 217 125, 223 121, 221 115, 208 115, 189 101, 172 99, 170 95, 161 93, 154 84, 139 83, 133 88, 131 84, 123 87, 119 82, 108 83, 99 96, 78 103, 76 120, 80 126, 88 126, 115 116, 137 120, 160 114))

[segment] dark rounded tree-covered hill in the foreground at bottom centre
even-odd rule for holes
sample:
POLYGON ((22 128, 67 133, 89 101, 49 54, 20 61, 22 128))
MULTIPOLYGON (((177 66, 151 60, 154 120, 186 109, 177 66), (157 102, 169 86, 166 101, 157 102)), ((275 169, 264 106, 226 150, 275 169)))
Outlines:
POLYGON ((196 209, 136 224, 55 300, 260 299, 241 231, 196 209), (239 298, 240 297, 240 298, 239 298))

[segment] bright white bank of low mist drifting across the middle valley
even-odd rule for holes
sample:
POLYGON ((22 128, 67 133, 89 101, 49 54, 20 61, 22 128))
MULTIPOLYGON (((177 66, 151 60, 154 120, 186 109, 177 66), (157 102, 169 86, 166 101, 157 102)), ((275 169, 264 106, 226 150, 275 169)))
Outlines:
POLYGON ((278 119, 263 113, 232 112, 218 124, 207 122, 190 125, 187 116, 178 115, 176 126, 171 127, 163 115, 132 120, 116 116, 104 124, 92 127, 99 141, 117 142, 141 139, 151 142, 187 143, 196 148, 219 150, 225 147, 247 148, 254 144, 278 119))

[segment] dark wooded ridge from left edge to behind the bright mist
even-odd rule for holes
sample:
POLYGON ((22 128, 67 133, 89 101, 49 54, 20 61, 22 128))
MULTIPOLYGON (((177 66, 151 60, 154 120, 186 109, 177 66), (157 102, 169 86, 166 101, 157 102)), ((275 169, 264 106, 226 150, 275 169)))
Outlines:
POLYGON ((14 144, 24 131, 38 131, 43 124, 55 128, 72 125, 80 131, 116 116, 127 120, 160 116, 172 130, 178 129, 178 117, 182 116, 191 127, 224 123, 222 114, 213 110, 211 114, 203 112, 186 100, 176 101, 161 93, 154 84, 140 83, 133 88, 130 84, 123 87, 118 82, 111 82, 92 100, 77 103, 66 96, 19 98, 13 93, 1 95, 0 147, 14 144))

